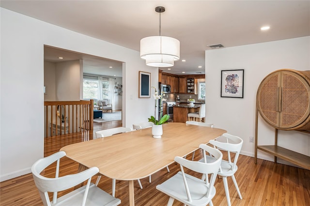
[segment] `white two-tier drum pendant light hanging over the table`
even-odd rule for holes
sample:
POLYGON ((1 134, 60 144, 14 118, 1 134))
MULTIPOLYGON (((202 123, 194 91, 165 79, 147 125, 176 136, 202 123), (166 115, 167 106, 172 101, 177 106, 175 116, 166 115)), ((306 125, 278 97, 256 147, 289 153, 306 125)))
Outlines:
POLYGON ((149 36, 140 40, 140 57, 151 67, 171 67, 180 59, 180 41, 160 35, 160 13, 165 7, 157 6, 159 13, 159 36, 149 36))

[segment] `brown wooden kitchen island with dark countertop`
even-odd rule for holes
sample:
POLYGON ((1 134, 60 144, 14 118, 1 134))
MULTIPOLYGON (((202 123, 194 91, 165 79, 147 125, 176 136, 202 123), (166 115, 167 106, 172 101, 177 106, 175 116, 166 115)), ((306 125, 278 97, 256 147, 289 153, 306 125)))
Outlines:
POLYGON ((182 122, 187 121, 187 114, 190 112, 198 112, 199 106, 188 106, 187 103, 180 103, 173 105, 173 122, 182 122))

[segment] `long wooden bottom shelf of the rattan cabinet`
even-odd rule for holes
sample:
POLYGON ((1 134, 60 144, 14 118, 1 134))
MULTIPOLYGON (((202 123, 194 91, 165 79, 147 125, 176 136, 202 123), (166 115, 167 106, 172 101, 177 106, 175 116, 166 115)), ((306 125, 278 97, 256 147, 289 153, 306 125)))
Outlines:
POLYGON ((279 157, 282 160, 292 162, 300 167, 310 170, 309 156, 276 145, 257 146, 257 148, 276 157, 279 157))

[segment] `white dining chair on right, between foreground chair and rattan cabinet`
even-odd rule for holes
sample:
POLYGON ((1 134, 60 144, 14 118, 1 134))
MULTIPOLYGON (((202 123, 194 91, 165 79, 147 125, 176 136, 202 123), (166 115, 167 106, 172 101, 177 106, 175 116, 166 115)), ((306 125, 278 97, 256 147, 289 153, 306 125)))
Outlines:
MULTIPOLYGON (((227 152, 228 159, 221 161, 221 165, 219 167, 218 175, 223 177, 223 184, 224 184, 227 204, 228 204, 228 206, 231 206, 227 177, 232 177, 233 184, 234 184, 234 186, 238 192, 239 198, 242 199, 242 196, 241 196, 241 193, 239 191, 239 187, 238 187, 236 178, 234 177, 234 174, 238 170, 237 161, 238 161, 238 157, 239 157, 239 154, 241 151, 243 140, 238 136, 234 136, 234 135, 231 135, 228 133, 222 134, 222 136, 220 136, 220 138, 222 138, 222 137, 224 137, 226 139, 226 142, 219 142, 219 141, 217 141, 219 138, 217 138, 217 140, 210 140, 209 143, 214 145, 214 147, 227 152), (231 159, 231 153, 235 153, 233 162, 231 159)), ((211 156, 205 156, 205 157, 206 157, 207 162, 215 161, 215 159, 211 156)), ((203 159, 200 160, 200 162, 203 162, 203 161, 204 161, 203 159)))

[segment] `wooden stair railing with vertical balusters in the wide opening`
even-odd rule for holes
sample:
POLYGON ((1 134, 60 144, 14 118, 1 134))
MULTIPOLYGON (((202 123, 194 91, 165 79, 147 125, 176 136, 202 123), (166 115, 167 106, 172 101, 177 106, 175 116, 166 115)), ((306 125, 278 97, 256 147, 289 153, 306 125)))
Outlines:
POLYGON ((93 131, 93 100, 44 102, 45 136, 93 131))

